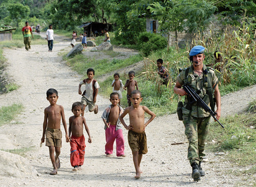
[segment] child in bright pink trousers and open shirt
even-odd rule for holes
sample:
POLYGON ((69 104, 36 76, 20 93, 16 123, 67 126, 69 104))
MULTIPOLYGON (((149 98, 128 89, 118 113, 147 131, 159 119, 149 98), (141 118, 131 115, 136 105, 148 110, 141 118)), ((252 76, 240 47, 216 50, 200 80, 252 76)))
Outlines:
POLYGON ((116 140, 116 155, 118 157, 125 157, 125 140, 123 138, 123 130, 121 130, 121 123, 119 121, 120 114, 123 113, 122 107, 118 106, 119 94, 116 92, 110 95, 111 105, 106 108, 101 118, 105 124, 104 130, 106 134, 106 157, 113 154, 113 144, 116 140))

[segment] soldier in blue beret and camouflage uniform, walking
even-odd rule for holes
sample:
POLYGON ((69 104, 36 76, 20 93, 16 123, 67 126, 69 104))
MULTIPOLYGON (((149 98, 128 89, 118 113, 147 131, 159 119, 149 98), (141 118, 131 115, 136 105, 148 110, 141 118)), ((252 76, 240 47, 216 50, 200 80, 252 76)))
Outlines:
POLYGON ((182 118, 185 126, 185 135, 188 138, 188 160, 192 166, 192 178, 194 181, 200 180, 200 176, 204 176, 201 162, 205 156, 204 147, 207 134, 209 132, 210 113, 205 112, 197 102, 192 105, 189 103, 189 97, 182 85, 188 85, 205 101, 205 103, 214 111, 214 99, 216 99, 216 118, 221 117, 221 94, 217 85, 218 79, 214 73, 214 69, 206 68, 203 61, 205 59, 204 47, 197 45, 190 51, 190 61, 192 66, 182 69, 180 75, 177 76, 174 93, 181 96, 185 95, 184 106, 182 107, 182 118))

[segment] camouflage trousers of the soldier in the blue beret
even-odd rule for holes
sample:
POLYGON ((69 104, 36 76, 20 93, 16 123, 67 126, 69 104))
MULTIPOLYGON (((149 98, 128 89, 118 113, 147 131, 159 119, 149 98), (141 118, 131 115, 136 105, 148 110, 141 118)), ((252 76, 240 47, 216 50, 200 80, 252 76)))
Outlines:
POLYGON ((185 135, 188 138, 188 160, 199 164, 205 156, 205 140, 209 133, 210 116, 206 118, 194 118, 190 115, 183 116, 185 135))

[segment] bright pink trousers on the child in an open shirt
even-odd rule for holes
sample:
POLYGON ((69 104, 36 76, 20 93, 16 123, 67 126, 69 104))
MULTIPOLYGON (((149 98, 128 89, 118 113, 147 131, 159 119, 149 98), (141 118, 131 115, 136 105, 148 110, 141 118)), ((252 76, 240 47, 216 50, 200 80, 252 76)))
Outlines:
POLYGON ((110 125, 105 131, 106 145, 105 154, 113 154, 114 140, 116 140, 116 155, 119 157, 125 154, 125 138, 123 138, 123 130, 117 130, 115 125, 110 125))

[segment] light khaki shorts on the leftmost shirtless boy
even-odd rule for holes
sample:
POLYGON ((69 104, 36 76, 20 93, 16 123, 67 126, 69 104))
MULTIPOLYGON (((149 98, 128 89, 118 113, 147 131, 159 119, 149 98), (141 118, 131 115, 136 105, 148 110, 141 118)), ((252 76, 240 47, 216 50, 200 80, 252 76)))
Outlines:
POLYGON ((55 130, 52 128, 46 129, 46 146, 61 147, 61 130, 55 130))

